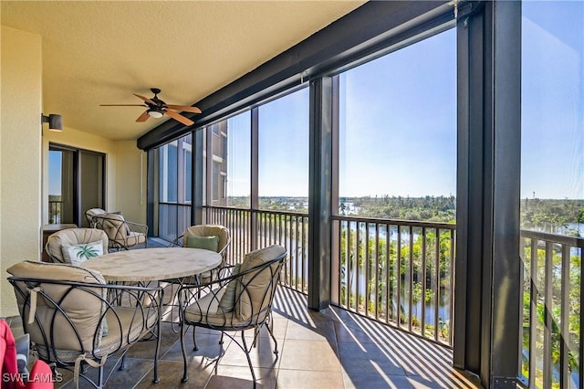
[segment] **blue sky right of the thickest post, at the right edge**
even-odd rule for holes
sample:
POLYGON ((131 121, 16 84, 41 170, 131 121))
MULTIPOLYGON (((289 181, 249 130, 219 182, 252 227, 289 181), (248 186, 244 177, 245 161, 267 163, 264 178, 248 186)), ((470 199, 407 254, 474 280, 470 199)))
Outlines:
POLYGON ((584 199, 584 2, 524 2, 522 198, 584 199))

